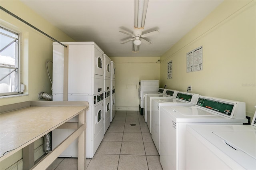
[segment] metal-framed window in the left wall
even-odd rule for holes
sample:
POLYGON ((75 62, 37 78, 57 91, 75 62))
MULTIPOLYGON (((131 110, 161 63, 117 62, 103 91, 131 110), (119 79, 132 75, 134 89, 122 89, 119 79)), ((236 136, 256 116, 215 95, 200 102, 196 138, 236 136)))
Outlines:
POLYGON ((20 91, 19 34, 0 27, 0 96, 20 91))

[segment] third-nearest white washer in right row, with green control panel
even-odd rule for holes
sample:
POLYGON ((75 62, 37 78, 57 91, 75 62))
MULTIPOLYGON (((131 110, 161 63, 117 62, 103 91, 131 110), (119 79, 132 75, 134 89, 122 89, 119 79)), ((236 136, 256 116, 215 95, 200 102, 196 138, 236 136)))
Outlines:
POLYGON ((160 111, 161 106, 192 106, 196 105, 198 94, 178 92, 176 98, 160 98, 151 100, 151 137, 156 145, 156 149, 160 154, 160 111))

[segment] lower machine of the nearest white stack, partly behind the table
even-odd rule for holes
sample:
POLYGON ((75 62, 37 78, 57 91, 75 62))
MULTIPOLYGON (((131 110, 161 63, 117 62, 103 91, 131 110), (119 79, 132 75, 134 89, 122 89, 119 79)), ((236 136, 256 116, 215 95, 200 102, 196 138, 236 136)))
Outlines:
MULTIPOLYGON (((59 96, 62 101, 63 97, 59 96)), ((56 101, 58 101, 56 99, 56 101)), ((88 101, 89 110, 86 111, 86 158, 92 158, 100 146, 104 137, 104 94, 98 95, 69 95, 68 101, 88 101)), ((78 117, 74 117, 68 122, 77 122, 78 117)), ((52 131, 52 148, 55 148, 74 129, 55 129, 52 131)), ((77 157, 78 141, 73 142, 60 157, 77 157)))

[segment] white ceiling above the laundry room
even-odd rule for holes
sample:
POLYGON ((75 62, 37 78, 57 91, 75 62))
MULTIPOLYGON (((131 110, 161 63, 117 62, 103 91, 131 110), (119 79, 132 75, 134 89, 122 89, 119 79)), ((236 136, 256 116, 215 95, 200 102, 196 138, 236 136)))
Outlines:
POLYGON ((120 44, 129 36, 119 31, 134 30, 134 0, 21 1, 75 41, 96 42, 109 57, 159 57, 222 2, 150 0, 142 32, 160 34, 145 38, 152 44, 142 43, 140 52, 132 53, 132 41, 120 44))

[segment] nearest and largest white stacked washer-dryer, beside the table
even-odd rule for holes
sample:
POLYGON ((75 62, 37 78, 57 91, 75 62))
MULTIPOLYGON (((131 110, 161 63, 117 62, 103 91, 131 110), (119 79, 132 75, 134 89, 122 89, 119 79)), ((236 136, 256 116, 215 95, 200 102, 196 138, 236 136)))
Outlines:
MULTIPOLYGON (((53 43, 53 101, 88 101, 86 158, 92 158, 104 136, 104 52, 94 42, 53 43)), ((77 118, 70 120, 77 122, 77 118)), ((52 132, 52 148, 73 129, 52 132)), ((77 141, 60 156, 77 157, 77 141)))

